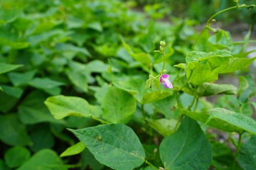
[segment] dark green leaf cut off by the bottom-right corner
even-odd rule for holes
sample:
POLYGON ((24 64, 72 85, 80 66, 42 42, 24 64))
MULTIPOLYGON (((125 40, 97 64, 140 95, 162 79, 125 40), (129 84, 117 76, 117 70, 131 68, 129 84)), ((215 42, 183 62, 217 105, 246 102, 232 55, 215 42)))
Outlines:
POLYGON ((252 135, 251 139, 242 145, 238 153, 238 162, 244 170, 256 168, 256 136, 252 135))

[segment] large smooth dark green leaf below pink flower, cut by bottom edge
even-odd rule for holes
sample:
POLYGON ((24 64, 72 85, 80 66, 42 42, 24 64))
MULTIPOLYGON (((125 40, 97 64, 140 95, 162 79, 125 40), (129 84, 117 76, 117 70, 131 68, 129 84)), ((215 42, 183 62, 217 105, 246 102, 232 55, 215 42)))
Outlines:
POLYGON ((160 158, 167 169, 207 169, 211 162, 211 146, 198 123, 185 117, 179 129, 163 139, 160 158))

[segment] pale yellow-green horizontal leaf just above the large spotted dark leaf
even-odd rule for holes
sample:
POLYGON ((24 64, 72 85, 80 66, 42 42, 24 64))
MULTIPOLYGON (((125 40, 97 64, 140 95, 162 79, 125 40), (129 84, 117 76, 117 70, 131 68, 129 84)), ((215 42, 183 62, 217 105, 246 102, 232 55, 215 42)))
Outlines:
POLYGON ((52 96, 45 101, 45 105, 56 119, 70 115, 98 117, 101 114, 101 110, 98 107, 89 105, 86 100, 75 96, 52 96))

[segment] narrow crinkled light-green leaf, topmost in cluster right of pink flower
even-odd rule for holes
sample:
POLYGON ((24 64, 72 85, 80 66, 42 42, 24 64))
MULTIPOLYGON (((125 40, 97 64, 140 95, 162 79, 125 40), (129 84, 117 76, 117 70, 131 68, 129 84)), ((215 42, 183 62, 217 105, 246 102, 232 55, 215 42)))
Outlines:
POLYGON ((186 63, 208 60, 215 57, 232 57, 232 54, 226 50, 216 50, 209 53, 192 51, 187 54, 186 63))

